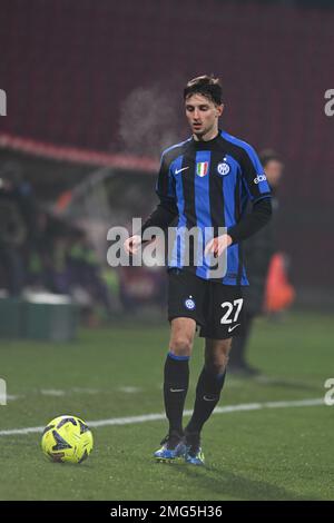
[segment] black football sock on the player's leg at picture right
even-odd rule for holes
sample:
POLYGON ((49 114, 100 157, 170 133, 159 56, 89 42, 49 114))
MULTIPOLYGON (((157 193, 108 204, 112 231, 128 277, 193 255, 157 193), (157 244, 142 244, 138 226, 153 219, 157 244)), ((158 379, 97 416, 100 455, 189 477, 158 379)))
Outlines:
POLYGON ((209 418, 215 406, 219 402, 224 386, 226 371, 223 374, 204 366, 196 387, 195 407, 186 432, 199 434, 203 425, 209 418))

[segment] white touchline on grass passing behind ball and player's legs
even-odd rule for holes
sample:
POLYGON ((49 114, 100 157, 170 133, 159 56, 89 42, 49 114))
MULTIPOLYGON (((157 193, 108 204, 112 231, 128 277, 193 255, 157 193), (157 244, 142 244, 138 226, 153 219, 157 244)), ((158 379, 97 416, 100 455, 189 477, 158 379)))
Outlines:
MULTIPOLYGON (((288 407, 310 407, 324 405, 323 398, 313 399, 292 399, 284 402, 265 402, 265 403, 240 403, 239 405, 227 405, 225 407, 216 407, 213 414, 226 414, 230 412, 240 411, 259 411, 262 408, 288 408, 288 407)), ((193 411, 185 411, 186 416, 190 416, 193 411)), ((97 420, 87 422, 90 427, 102 427, 108 425, 132 425, 135 423, 155 422, 165 420, 165 413, 160 414, 144 414, 143 416, 129 416, 129 417, 111 417, 109 420, 97 420)), ((24 434, 36 434, 43 432, 45 427, 27 427, 27 428, 9 428, 0 431, 0 436, 16 436, 24 434)))

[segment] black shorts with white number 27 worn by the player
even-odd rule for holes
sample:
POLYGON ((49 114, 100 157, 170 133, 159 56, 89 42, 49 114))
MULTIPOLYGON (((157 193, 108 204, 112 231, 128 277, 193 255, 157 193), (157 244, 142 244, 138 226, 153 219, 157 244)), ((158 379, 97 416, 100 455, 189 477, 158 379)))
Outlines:
POLYGON ((240 334, 243 305, 240 286, 203 279, 187 270, 168 270, 168 319, 195 319, 202 337, 226 339, 240 334))

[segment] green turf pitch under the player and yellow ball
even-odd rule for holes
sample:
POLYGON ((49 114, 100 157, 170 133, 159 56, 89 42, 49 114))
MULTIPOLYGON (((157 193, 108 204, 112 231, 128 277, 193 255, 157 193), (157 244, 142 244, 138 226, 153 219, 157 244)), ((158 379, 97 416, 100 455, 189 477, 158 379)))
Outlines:
MULTIPOLYGON (((307 403, 322 399, 324 382, 334 377, 333 339, 331 316, 258 320, 249 361, 263 376, 226 381, 220 407, 235 408, 208 421, 203 468, 151 458, 166 434, 161 417, 146 417, 163 412, 166 324, 129 320, 81 330, 71 344, 1 341, 0 377, 9 399, 0 406, 0 499, 333 500, 334 406, 307 403), (16 432, 61 414, 105 421, 94 426, 95 450, 81 465, 45 461, 38 430, 16 432)), ((196 341, 190 363, 188 409, 202 343, 196 341)))

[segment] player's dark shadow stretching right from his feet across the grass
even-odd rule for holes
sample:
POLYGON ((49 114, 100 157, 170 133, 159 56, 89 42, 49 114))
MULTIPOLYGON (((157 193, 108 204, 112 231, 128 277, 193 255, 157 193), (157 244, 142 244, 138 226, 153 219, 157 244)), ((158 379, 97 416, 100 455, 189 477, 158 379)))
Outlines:
POLYGON ((191 483, 198 484, 198 489, 203 492, 207 491, 207 500, 230 499, 244 501, 317 501, 321 497, 315 495, 302 496, 289 492, 288 490, 273 485, 266 481, 252 480, 229 472, 226 468, 219 468, 215 465, 206 465, 205 467, 195 467, 191 465, 177 464, 173 465, 173 470, 177 474, 183 475, 190 487, 191 483))

